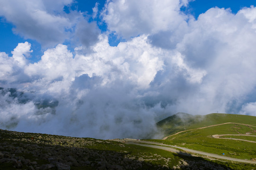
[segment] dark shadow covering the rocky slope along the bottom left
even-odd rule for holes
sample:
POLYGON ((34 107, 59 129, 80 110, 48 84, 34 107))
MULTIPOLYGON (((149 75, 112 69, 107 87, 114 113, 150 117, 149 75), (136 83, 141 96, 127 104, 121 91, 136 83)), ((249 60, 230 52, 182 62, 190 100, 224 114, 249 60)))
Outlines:
MULTIPOLYGON (((120 152, 106 150, 113 148, 113 145, 122 146, 122 143, 110 142, 108 145, 102 145, 102 148, 95 149, 89 148, 97 147, 95 145, 86 148, 42 144, 19 141, 16 136, 5 137, 0 134, 0 170, 232 170, 225 165, 183 152, 170 153, 171 159, 167 160, 168 157, 161 157, 159 151, 159 154, 150 160, 150 156, 140 156, 141 153, 149 152, 149 148, 144 146, 125 145, 126 149, 130 148, 126 152, 124 147, 119 147, 120 152), (104 149, 103 146, 107 147, 104 149)), ((156 152, 154 149, 151 151, 156 152)))

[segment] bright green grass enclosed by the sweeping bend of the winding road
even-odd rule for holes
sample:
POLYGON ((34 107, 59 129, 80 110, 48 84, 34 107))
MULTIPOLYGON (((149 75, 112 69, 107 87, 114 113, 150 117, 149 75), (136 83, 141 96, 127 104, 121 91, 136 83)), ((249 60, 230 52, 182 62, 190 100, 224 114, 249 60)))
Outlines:
MULTIPOLYGON (((256 158, 256 144, 244 141, 229 139, 215 139, 212 135, 216 134, 238 134, 234 124, 220 125, 217 127, 208 127, 180 133, 171 136, 168 140, 172 144, 183 145, 187 148, 204 151, 208 153, 221 154, 239 159, 256 158)), ((239 125, 239 127, 247 128, 239 125)))

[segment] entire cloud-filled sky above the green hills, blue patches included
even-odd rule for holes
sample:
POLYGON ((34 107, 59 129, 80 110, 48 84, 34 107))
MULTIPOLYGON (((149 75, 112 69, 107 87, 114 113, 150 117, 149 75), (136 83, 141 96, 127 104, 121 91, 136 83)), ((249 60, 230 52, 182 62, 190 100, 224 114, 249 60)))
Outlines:
POLYGON ((255 0, 0 0, 0 128, 160 138, 177 112, 256 116, 255 0))

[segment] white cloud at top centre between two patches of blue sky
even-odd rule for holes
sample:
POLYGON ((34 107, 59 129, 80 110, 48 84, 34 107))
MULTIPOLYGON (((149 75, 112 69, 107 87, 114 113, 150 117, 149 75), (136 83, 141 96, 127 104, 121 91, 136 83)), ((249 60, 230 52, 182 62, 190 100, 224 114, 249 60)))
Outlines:
POLYGON ((180 0, 109 0, 101 15, 110 31, 127 39, 177 29, 187 18, 180 12, 180 7, 186 3, 180 0))

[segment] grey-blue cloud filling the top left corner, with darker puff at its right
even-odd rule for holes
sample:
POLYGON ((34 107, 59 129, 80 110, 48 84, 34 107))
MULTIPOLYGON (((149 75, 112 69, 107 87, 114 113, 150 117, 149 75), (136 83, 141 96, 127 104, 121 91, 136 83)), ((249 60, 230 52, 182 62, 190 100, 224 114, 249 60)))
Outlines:
POLYGON ((95 23, 88 23, 82 12, 63 11, 72 1, 0 0, 0 16, 14 25, 15 34, 36 40, 45 48, 70 41, 72 37, 85 46, 97 42, 99 31, 95 23))

